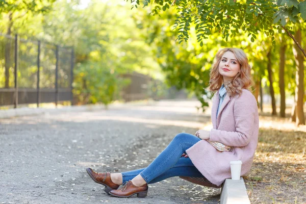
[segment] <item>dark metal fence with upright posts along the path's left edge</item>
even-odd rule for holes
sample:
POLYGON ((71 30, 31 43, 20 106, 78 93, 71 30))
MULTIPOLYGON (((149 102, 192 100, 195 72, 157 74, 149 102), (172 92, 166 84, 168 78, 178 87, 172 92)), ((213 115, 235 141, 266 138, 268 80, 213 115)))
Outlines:
POLYGON ((72 47, 0 33, 0 106, 71 100, 72 47))

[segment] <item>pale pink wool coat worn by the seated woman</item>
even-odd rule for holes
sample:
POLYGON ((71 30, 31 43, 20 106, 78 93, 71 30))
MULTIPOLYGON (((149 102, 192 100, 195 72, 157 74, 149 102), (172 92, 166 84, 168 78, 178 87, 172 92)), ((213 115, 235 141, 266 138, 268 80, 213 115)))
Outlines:
POLYGON ((195 167, 217 186, 231 177, 231 161, 242 161, 241 175, 249 172, 259 131, 257 102, 250 91, 243 89, 240 97, 226 95, 216 116, 218 105, 219 92, 213 98, 210 140, 233 146, 233 151, 218 151, 206 140, 186 150, 195 167))

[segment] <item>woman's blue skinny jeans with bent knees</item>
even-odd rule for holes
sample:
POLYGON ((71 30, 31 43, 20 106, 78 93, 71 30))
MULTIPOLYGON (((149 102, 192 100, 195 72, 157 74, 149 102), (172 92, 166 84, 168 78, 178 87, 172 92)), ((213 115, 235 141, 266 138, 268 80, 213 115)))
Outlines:
POLYGON ((186 149, 200 141, 194 135, 176 135, 161 154, 146 168, 122 172, 123 183, 140 174, 147 184, 160 182, 173 176, 204 177, 189 158, 182 157, 186 149))

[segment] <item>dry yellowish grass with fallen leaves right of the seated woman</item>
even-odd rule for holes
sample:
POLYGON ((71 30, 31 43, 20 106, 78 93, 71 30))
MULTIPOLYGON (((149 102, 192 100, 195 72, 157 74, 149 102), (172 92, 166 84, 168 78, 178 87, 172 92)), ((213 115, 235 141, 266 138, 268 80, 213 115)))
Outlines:
POLYGON ((306 126, 260 116, 258 147, 244 180, 251 203, 306 203, 306 126))

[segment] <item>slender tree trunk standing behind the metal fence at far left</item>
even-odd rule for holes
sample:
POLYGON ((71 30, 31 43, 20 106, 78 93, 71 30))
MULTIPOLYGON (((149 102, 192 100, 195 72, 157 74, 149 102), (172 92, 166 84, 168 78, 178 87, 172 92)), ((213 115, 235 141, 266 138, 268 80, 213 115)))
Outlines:
MULTIPOLYGON (((8 31, 7 35, 10 36, 12 32, 12 13, 9 13, 9 24, 8 24, 8 31)), ((12 63, 12 39, 11 38, 5 38, 7 39, 5 43, 5 88, 10 87, 10 68, 13 66, 12 63)))

